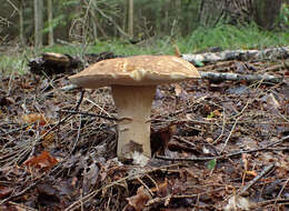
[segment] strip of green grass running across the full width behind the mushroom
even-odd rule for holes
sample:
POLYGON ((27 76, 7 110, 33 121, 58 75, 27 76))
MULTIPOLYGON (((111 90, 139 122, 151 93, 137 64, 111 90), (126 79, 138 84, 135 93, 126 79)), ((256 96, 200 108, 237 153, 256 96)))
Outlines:
POLYGON ((96 40, 94 44, 56 44, 43 47, 39 50, 26 48, 20 53, 0 54, 0 73, 12 71, 24 72, 27 60, 38 57, 41 52, 59 52, 81 56, 82 53, 98 53, 112 51, 114 54, 173 54, 172 41, 177 43, 182 53, 206 51, 211 47, 226 49, 265 49, 269 47, 288 46, 288 31, 262 31, 256 24, 236 27, 219 24, 216 28, 206 29, 199 27, 185 38, 150 38, 138 44, 131 44, 120 39, 107 41, 96 40))

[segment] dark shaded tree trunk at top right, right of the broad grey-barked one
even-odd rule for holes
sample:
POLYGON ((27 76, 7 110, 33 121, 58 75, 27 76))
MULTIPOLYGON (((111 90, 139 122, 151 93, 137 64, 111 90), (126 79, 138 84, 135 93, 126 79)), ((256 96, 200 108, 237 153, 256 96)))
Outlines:
POLYGON ((255 0, 255 21, 265 29, 272 29, 279 16, 282 0, 255 0))

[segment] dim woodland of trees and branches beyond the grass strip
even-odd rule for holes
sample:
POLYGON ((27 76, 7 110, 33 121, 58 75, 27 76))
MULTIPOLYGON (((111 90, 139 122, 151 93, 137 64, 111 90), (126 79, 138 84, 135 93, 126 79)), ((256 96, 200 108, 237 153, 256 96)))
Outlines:
POLYGON ((199 26, 242 24, 252 20, 271 30, 278 26, 276 18, 281 3, 281 0, 4 0, 0 18, 9 24, 1 28, 0 38, 36 47, 53 44, 54 40, 61 43, 91 43, 110 38, 140 40, 189 36, 199 26))

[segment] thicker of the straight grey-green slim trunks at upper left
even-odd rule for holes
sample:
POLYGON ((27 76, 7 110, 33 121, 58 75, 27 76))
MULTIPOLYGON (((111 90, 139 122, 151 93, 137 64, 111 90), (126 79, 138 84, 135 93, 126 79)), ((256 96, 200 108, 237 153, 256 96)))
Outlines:
POLYGON ((42 29, 43 29, 43 1, 34 0, 34 47, 42 47, 42 29))

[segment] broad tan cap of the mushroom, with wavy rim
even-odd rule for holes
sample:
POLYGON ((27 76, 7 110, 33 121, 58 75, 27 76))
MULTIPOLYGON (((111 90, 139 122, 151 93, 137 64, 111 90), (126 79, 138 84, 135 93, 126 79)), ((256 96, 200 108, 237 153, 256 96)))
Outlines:
POLYGON ((69 77, 78 87, 156 86, 200 78, 188 61, 175 56, 133 56, 99 61, 69 77))

